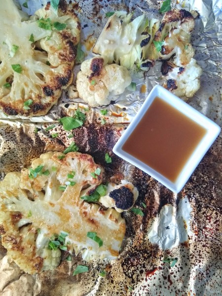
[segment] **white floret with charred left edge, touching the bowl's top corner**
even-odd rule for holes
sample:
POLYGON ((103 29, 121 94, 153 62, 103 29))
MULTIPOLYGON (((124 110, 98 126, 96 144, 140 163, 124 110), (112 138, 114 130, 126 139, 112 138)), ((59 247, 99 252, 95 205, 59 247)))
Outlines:
POLYGON ((170 62, 164 62, 161 70, 167 79, 163 86, 178 97, 191 98, 200 88, 199 78, 203 70, 193 58, 185 67, 176 67, 170 62))

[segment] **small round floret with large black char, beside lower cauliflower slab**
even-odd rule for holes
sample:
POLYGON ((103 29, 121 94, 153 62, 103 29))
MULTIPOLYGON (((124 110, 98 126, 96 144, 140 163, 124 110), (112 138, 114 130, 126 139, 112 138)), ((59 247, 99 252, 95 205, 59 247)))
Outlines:
POLYGON ((119 213, 130 210, 139 192, 134 185, 126 180, 121 180, 120 185, 109 183, 107 193, 101 196, 99 202, 106 208, 115 208, 119 213))

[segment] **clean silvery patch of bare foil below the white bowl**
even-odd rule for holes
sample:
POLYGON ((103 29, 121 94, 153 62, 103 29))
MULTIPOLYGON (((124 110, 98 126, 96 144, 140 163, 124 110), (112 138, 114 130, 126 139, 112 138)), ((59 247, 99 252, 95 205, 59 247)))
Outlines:
POLYGON ((171 204, 162 207, 148 230, 148 239, 163 250, 169 250, 191 236, 190 213, 192 208, 187 197, 180 200, 177 208, 171 204))

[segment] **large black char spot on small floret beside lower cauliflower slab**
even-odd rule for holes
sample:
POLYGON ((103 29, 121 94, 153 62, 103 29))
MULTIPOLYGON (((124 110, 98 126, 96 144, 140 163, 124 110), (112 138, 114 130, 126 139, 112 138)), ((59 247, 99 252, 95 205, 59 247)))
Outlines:
POLYGON ((109 196, 114 199, 118 209, 127 210, 133 206, 133 193, 125 186, 111 191, 109 196))

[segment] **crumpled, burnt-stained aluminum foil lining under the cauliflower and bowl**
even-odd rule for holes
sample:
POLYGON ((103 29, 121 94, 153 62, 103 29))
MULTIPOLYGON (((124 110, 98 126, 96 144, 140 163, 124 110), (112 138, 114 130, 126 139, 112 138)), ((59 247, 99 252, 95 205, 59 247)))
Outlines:
MULTIPOLYGON (((20 3, 23 1, 19 0, 20 3)), ((43 1, 30 0, 29 13, 43 1)), ((195 9, 192 44, 194 58, 204 70, 201 88, 187 103, 222 124, 222 1, 177 0, 173 6, 195 9)), ((158 13, 161 1, 74 1, 82 27, 81 43, 86 58, 105 25, 105 12, 135 10, 135 16, 158 13)), ((24 8, 26 10, 26 8, 24 8)), ((75 67, 76 73, 79 68, 75 67)), ((132 72, 135 92, 126 90, 105 116, 101 125, 100 109, 90 109, 84 126, 66 132, 57 119, 74 114, 86 105, 63 93, 58 105, 41 117, 13 117, 0 114, 0 178, 18 171, 42 152, 63 151, 75 141, 80 152, 94 156, 105 167, 107 179, 126 178, 139 189, 136 206, 144 217, 124 213, 127 223, 125 239, 118 259, 107 262, 63 261, 54 271, 35 276, 25 274, 0 248, 0 296, 221 296, 222 295, 222 139, 221 135, 206 153, 184 189, 175 194, 141 170, 114 154, 106 164, 104 153, 111 152, 127 124, 140 109, 148 92, 161 84, 160 63, 147 73, 132 72), (146 87, 142 87, 146 85, 146 87), (143 92, 141 91, 141 87, 143 92), (145 89, 145 91, 144 91, 145 89), (52 130, 45 128, 55 124, 52 130), (37 129, 36 129, 37 128, 37 129), (53 139, 50 135, 58 133, 53 139), (146 204, 146 208, 142 202, 146 204), (77 264, 89 266, 89 272, 72 276, 77 264), (99 275, 106 270, 106 277, 99 275)), ((185 98, 184 98, 185 99, 185 98)), ((104 109, 104 108, 102 108, 104 109)), ((175 144, 176 145, 176 144, 175 144)))

